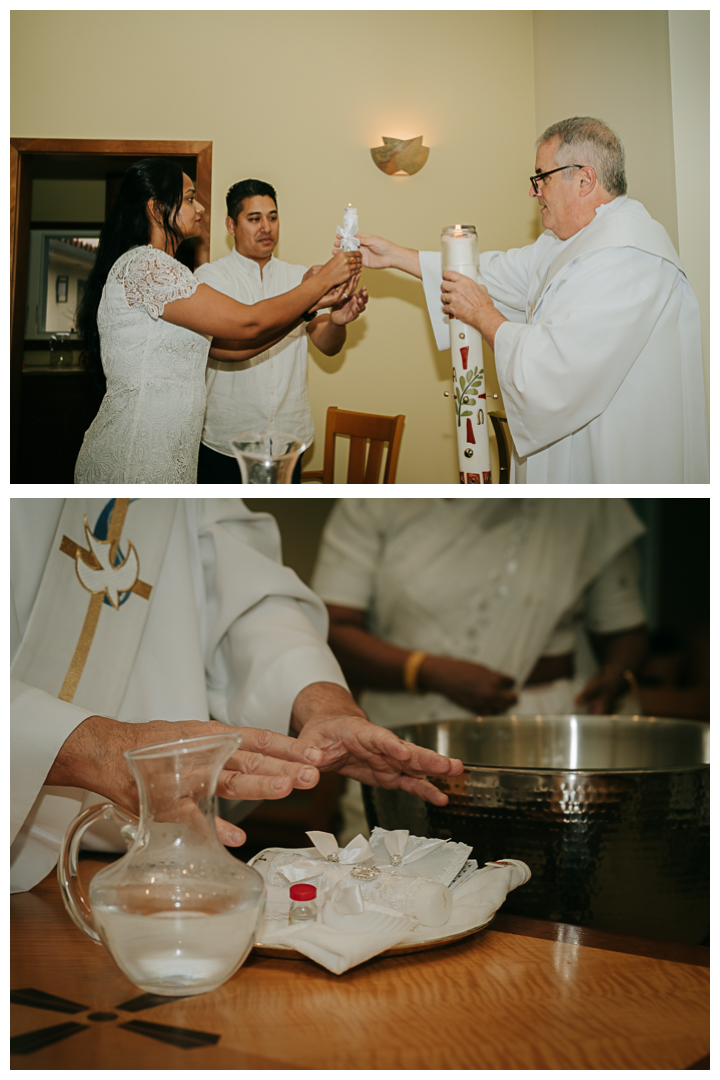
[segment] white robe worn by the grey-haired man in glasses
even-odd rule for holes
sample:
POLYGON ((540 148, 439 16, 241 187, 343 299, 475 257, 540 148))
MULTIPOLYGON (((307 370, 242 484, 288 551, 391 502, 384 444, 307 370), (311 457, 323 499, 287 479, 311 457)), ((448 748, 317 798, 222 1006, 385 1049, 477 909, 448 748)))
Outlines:
MULTIPOLYGON (((438 349, 449 349, 440 256, 421 252, 438 349)), ((697 301, 667 232, 622 195, 569 240, 480 255, 506 319, 494 355, 514 483, 705 484, 697 301)))

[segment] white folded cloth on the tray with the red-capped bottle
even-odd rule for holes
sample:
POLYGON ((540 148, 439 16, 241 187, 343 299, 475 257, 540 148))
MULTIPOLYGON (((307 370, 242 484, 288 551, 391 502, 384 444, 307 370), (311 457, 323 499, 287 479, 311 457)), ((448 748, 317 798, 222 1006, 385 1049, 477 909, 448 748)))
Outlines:
MULTIPOLYGON (((316 836, 317 834, 313 835, 313 840, 316 850, 320 850, 316 836)), ((371 845, 372 840, 373 837, 370 839, 371 845)), ((423 841, 425 838, 408 837, 405 850, 410 847, 411 840, 423 841)), ((451 841, 433 842, 434 848, 430 852, 431 855, 433 851, 440 850, 441 847, 451 843, 451 841)), ((321 841, 321 846, 326 847, 331 853, 338 850, 337 845, 332 849, 331 845, 327 847, 324 841, 321 841)), ((355 841, 348 847, 353 846, 355 846, 355 841)), ((390 841, 390 848, 395 848, 395 850, 399 850, 402 846, 402 838, 397 845, 394 840, 390 841)), ((413 845, 412 849, 417 850, 418 847, 419 843, 413 845)), ((462 847, 466 849, 466 852, 472 851, 466 846, 462 847)), ((384 842, 383 850, 388 851, 388 845, 384 842)), ((337 862, 326 863, 329 881, 324 882, 324 879, 318 877, 313 879, 321 885, 318 888, 320 914, 317 922, 288 926, 288 890, 280 885, 287 876, 287 870, 295 868, 287 861, 288 855, 293 860, 300 856, 305 867, 315 868, 307 849, 268 849, 261 851, 250 861, 250 865, 256 866, 267 881, 277 882, 267 887, 266 917, 260 930, 259 942, 266 946, 285 946, 296 949, 335 974, 341 974, 395 945, 419 945, 454 937, 473 929, 480 929, 502 906, 507 893, 530 878, 529 868, 519 860, 490 863, 481 869, 471 869, 465 876, 458 876, 456 869, 453 878, 457 879, 457 883, 452 891, 450 918, 441 926, 429 927, 423 926, 417 918, 403 910, 393 913, 392 908, 388 906, 388 897, 390 896, 390 902, 392 902, 393 890, 391 875, 386 869, 383 868, 380 877, 375 880, 376 885, 381 879, 386 882, 382 895, 378 897, 380 903, 375 903, 368 902, 368 896, 373 896, 373 893, 368 892, 365 888, 366 882, 358 882, 354 877, 347 876, 351 873, 348 865, 340 867, 337 862), (276 859, 277 864, 273 867, 276 859)), ((466 860, 466 855, 464 858, 466 860)), ((420 866, 422 863, 423 859, 420 858, 415 865, 420 866)), ((369 864, 363 863, 362 865, 369 864)), ((418 869, 416 874, 412 874, 410 867, 405 864, 403 869, 402 877, 425 878, 424 873, 418 869)), ((400 867, 393 868, 392 873, 399 870, 400 867)), ((446 861, 443 876, 447 877, 448 873, 449 864, 446 861)), ((437 879, 435 880, 437 881, 437 879)), ((403 895, 407 893, 408 885, 402 880, 397 881, 398 890, 403 895)), ((420 885, 419 882, 419 887, 420 885)), ((439 882, 439 885, 445 889, 445 892, 448 891, 445 888, 445 882, 439 882)), ((432 887, 432 880, 425 878, 422 887, 432 887)), ((417 890, 411 887, 410 892, 413 891, 417 890)))

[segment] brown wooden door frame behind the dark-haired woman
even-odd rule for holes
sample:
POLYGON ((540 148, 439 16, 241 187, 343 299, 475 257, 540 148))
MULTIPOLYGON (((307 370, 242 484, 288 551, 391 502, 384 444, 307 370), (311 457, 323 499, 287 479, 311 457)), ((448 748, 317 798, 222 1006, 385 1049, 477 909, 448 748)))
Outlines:
POLYGON ((103 154, 128 158, 194 158, 195 188, 205 207, 195 242, 195 265, 209 261, 213 187, 213 144, 175 139, 11 138, 10 140, 10 404, 11 470, 19 432, 18 418, 27 302, 28 246, 32 157, 37 154, 103 154))

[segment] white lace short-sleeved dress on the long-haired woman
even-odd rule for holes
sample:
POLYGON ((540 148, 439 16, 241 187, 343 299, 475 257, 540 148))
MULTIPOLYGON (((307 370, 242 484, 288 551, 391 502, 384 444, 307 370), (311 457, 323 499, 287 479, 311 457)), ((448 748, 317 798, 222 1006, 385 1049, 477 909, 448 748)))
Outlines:
POLYGON ((150 245, 112 267, 97 311, 107 391, 85 432, 76 484, 196 483, 209 345, 162 313, 198 285, 150 245))

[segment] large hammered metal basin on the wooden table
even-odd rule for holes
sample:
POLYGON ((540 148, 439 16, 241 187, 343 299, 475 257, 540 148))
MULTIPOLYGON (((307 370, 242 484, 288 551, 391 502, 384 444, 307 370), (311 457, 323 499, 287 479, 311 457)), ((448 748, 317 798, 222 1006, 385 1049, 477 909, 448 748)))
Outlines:
POLYGON ((644 937, 709 933, 709 724, 491 716, 393 729, 459 757, 449 802, 364 785, 370 827, 461 840, 532 870, 503 910, 644 937))

